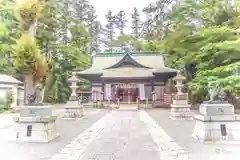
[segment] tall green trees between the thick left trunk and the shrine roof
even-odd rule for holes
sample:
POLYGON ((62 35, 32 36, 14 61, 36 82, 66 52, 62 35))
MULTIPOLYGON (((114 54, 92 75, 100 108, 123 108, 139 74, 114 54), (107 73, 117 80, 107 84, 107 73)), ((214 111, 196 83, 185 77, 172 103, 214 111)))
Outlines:
POLYGON ((90 63, 88 54, 90 36, 83 24, 85 19, 71 17, 69 4, 67 2, 55 4, 59 19, 56 21, 58 27, 54 35, 60 43, 55 41, 51 45, 53 50, 50 48, 53 51, 51 55, 54 65, 46 83, 44 99, 48 102, 66 102, 71 92, 67 78, 73 70, 83 70, 90 63))

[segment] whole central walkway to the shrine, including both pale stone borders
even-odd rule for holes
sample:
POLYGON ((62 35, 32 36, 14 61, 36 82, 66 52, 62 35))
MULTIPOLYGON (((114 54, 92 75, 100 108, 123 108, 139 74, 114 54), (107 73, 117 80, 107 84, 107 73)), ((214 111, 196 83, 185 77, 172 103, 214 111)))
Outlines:
POLYGON ((51 160, 188 159, 179 152, 184 155, 145 111, 112 111, 51 160))

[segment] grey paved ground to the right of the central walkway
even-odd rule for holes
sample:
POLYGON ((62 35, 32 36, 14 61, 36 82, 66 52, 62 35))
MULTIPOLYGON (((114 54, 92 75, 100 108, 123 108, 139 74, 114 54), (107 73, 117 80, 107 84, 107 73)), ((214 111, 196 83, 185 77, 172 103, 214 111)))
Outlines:
MULTIPOLYGON (((231 152, 240 150, 238 144, 202 144, 192 137, 195 121, 173 121, 167 109, 149 109, 149 116, 189 155, 192 160, 208 160, 218 150, 227 149, 231 152)), ((217 155, 219 156, 219 155, 217 155)), ((214 159, 215 160, 215 159, 214 159)))

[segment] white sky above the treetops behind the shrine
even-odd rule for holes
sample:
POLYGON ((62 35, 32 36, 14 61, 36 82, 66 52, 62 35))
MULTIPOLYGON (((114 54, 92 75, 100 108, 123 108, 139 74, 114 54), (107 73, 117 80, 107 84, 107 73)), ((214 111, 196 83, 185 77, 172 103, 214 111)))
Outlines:
MULTIPOLYGON (((90 0, 90 3, 95 7, 98 19, 102 24, 106 24, 105 14, 112 10, 113 14, 120 10, 124 10, 127 14, 129 22, 131 21, 131 13, 133 8, 137 7, 141 11, 149 3, 156 2, 157 0, 90 0)), ((144 16, 142 17, 145 18, 144 16)), ((130 23, 129 23, 130 24, 130 23)), ((126 32, 130 31, 130 26, 126 32)))

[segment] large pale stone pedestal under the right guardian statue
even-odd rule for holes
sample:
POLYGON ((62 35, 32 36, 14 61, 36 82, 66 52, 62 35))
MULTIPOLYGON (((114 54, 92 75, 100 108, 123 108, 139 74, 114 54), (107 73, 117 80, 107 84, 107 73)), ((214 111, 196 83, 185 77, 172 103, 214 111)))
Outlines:
POLYGON ((234 114, 229 103, 204 102, 195 115, 192 136, 201 142, 240 142, 240 115, 234 114))

